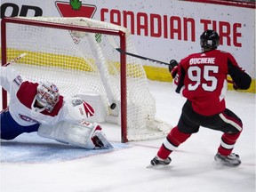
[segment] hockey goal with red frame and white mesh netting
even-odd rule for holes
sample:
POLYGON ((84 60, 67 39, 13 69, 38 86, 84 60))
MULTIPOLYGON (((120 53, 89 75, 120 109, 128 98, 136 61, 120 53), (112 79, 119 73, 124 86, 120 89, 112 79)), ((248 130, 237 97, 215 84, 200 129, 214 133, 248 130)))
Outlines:
MULTIPOLYGON (((140 60, 116 51, 121 47, 136 53, 126 28, 87 18, 3 20, 2 63, 26 52, 10 65, 23 79, 53 82, 64 96, 98 92, 105 120, 121 125, 123 142, 157 139, 172 129, 156 119, 156 100, 140 60), (115 109, 109 107, 112 103, 115 109)), ((6 106, 7 97, 3 102, 6 106)))

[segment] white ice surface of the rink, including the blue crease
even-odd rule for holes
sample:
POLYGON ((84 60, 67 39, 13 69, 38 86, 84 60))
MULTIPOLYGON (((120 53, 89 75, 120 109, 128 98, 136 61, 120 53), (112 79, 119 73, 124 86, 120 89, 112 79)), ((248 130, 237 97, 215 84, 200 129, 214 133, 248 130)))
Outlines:
MULTIPOLYGON (((149 82, 156 116, 177 124, 184 99, 172 84, 149 82)), ((114 148, 84 150, 24 134, 2 141, 1 192, 254 192, 255 94, 227 92, 227 107, 240 116, 244 131, 234 152, 242 164, 213 164, 221 132, 201 128, 173 152, 172 163, 146 168, 164 139, 120 143, 120 127, 102 124, 114 148)))

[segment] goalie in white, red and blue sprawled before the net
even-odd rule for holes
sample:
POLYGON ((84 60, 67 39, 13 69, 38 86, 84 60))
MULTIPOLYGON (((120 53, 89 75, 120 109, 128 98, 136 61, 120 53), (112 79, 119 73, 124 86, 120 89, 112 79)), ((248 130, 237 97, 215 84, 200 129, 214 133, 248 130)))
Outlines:
POLYGON ((93 108, 78 97, 64 98, 55 84, 31 83, 10 67, 1 67, 1 86, 9 92, 8 108, 1 112, 1 139, 24 132, 81 148, 112 148, 99 124, 88 123, 93 108))

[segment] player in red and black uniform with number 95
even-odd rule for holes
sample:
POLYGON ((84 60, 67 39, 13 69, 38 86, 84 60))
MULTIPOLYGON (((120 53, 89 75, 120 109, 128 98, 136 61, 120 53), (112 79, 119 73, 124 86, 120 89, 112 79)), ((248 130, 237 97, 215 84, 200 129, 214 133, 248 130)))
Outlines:
POLYGON ((214 156, 218 164, 237 166, 238 155, 232 153, 243 130, 241 119, 226 108, 225 93, 227 76, 230 75, 234 88, 249 89, 251 77, 240 68, 228 52, 216 50, 220 36, 214 30, 206 30, 200 36, 202 52, 191 54, 180 61, 171 60, 169 68, 174 78, 175 92, 188 100, 182 108, 177 126, 167 135, 151 165, 170 164, 169 155, 187 140, 199 127, 223 132, 220 147, 214 156))

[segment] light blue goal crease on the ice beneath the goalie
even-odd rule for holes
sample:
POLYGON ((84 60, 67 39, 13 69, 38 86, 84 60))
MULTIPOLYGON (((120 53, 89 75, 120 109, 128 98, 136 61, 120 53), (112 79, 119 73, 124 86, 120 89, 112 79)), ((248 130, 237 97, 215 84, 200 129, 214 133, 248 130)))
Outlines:
POLYGON ((113 148, 84 149, 62 144, 54 140, 31 140, 26 136, 15 140, 1 140, 1 163, 44 164, 66 162, 88 156, 97 156, 115 150, 131 148, 132 146, 120 142, 111 142, 113 148))

